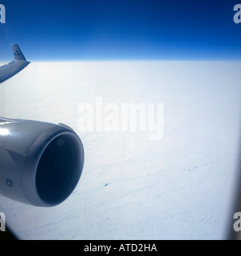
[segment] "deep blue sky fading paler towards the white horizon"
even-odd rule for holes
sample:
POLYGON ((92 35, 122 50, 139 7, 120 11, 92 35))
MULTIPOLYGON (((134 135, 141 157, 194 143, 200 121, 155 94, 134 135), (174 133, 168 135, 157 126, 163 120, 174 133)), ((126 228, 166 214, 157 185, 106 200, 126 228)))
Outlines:
POLYGON ((241 0, 0 0, 0 60, 241 60, 241 0))

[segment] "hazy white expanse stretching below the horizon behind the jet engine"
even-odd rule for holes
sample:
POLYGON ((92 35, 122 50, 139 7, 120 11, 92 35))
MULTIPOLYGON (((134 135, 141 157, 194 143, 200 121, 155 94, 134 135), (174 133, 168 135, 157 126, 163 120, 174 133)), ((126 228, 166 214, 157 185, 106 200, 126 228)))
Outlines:
POLYGON ((0 85, 0 116, 63 122, 85 147, 73 194, 53 208, 0 196, 26 239, 225 238, 238 158, 240 62, 31 63, 0 85), (164 103, 164 138, 80 132, 96 97, 164 103))

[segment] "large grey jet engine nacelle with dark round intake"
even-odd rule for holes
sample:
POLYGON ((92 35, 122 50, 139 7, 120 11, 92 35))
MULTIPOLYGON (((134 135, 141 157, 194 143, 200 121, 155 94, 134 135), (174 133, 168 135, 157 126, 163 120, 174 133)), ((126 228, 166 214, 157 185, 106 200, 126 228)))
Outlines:
POLYGON ((68 126, 0 118, 0 194, 34 206, 56 206, 77 186, 81 139, 68 126))

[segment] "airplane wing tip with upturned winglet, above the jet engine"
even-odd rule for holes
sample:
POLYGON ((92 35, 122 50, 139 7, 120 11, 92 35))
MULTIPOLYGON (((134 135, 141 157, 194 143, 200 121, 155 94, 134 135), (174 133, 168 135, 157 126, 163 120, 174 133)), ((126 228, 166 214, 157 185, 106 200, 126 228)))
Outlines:
POLYGON ((0 83, 18 74, 18 72, 30 64, 22 54, 18 45, 12 44, 12 50, 14 53, 14 61, 0 66, 0 83))

